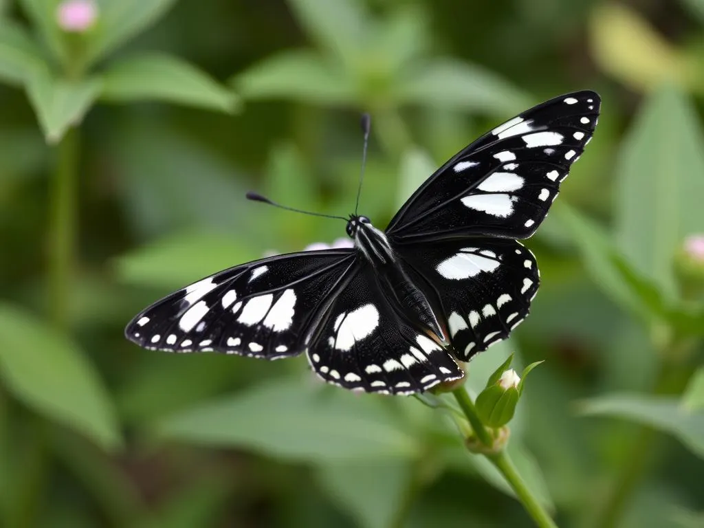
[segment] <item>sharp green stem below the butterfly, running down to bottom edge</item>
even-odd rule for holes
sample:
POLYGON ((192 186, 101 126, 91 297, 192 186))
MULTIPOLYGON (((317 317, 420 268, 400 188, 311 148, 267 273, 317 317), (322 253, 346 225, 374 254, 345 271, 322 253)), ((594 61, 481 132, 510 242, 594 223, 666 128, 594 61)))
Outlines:
POLYGON ((536 526, 541 528, 557 528, 557 524, 555 524, 545 508, 543 508, 521 478, 515 465, 511 462, 508 453, 506 453, 505 448, 502 447, 498 449, 498 451, 491 452, 491 448, 494 446, 494 436, 489 432, 489 429, 484 427, 482 420, 479 419, 477 409, 474 407, 474 402, 472 402, 472 398, 467 394, 465 388, 460 386, 453 391, 453 394, 460 404, 463 413, 465 413, 465 417, 467 417, 470 425, 472 425, 472 430, 477 436, 477 439, 487 448, 487 452, 482 454, 491 460, 491 463, 496 466, 496 469, 503 474, 506 482, 511 486, 518 500, 532 517, 536 526))

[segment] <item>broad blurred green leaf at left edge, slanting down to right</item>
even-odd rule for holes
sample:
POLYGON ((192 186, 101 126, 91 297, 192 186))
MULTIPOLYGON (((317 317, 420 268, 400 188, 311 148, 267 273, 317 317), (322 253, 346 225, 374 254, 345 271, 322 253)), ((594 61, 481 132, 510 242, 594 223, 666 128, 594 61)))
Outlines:
POLYGON ((0 377, 27 406, 104 448, 120 445, 112 403, 79 348, 44 322, 0 304, 0 377))

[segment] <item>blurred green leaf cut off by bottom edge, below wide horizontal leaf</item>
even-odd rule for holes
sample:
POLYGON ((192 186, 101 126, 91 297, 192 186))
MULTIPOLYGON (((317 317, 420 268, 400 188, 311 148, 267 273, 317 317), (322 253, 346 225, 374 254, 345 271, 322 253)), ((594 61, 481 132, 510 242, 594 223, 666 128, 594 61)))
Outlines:
POLYGON ((405 460, 325 464, 318 479, 332 500, 348 511, 360 527, 394 526, 394 516, 411 479, 405 460), (374 478, 370 478, 370 475, 374 478))

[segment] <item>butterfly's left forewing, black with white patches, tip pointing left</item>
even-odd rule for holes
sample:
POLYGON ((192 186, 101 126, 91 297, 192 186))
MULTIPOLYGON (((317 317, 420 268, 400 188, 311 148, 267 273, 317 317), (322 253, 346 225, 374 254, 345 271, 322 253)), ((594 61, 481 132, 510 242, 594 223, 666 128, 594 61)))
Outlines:
POLYGON ((354 262, 351 249, 331 249, 239 265, 157 301, 125 335, 165 351, 296 356, 354 262))

